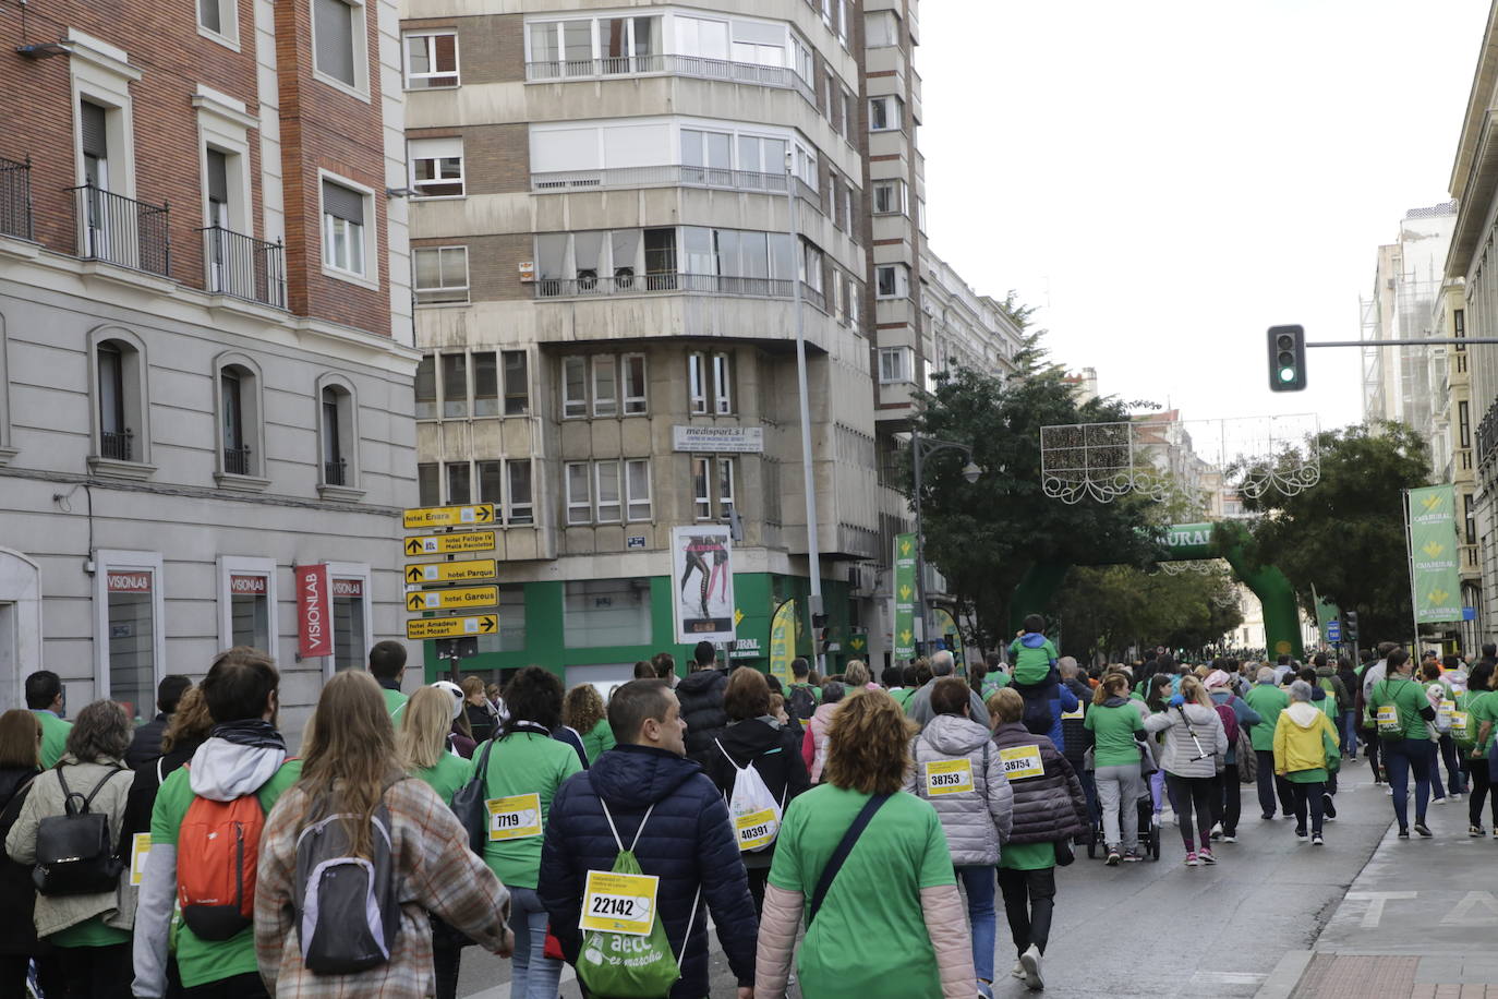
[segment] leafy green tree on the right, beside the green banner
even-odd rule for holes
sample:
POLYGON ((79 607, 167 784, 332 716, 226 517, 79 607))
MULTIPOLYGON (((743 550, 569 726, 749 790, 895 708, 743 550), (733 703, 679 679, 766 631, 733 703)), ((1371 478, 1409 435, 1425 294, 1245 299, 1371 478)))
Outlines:
MULTIPOLYGON (((1404 490, 1431 481, 1425 442, 1410 427, 1386 422, 1330 430, 1314 445, 1320 482, 1296 496, 1270 488, 1258 499, 1243 497, 1243 508, 1260 514, 1249 557, 1279 566, 1309 614, 1315 614, 1312 587, 1342 611, 1356 610, 1365 646, 1408 635, 1404 490)), ((1275 463, 1294 467, 1302 455, 1303 448, 1291 449, 1275 463)))

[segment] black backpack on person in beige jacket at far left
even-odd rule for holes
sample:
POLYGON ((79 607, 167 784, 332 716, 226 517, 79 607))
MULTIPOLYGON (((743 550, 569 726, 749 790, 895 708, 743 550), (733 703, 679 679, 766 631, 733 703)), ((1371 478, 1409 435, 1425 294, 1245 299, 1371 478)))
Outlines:
POLYGON ((43 896, 97 894, 114 891, 120 884, 124 860, 109 836, 109 816, 88 810, 94 795, 120 773, 129 770, 112 767, 84 797, 67 786, 66 767, 57 768, 63 813, 49 815, 37 825, 36 867, 31 869, 31 882, 43 896))

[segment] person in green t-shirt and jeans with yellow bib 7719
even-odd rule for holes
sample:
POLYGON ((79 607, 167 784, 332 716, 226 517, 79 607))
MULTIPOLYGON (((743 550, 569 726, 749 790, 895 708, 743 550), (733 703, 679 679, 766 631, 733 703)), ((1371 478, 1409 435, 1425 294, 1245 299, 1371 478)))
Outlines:
POLYGON ((568 743, 551 738, 562 723, 562 681, 554 672, 541 666, 517 672, 505 687, 505 734, 473 750, 490 810, 484 863, 509 888, 511 995, 554 996, 562 962, 545 956, 547 911, 536 896, 541 842, 557 788, 583 764, 568 743))

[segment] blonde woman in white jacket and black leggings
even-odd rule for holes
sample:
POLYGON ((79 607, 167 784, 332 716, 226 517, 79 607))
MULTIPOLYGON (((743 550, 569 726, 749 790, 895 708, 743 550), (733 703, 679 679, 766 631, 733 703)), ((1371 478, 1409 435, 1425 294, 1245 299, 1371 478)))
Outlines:
POLYGON ((1165 752, 1159 768, 1176 803, 1180 840, 1186 848, 1186 866, 1215 864, 1212 855, 1212 779, 1227 765, 1227 729, 1207 696, 1207 689, 1195 677, 1180 678, 1180 692, 1165 702, 1165 710, 1144 719, 1144 731, 1165 734, 1165 752), (1195 810, 1200 839, 1192 836, 1191 813, 1195 810), (1200 846, 1197 843, 1200 842, 1200 846))

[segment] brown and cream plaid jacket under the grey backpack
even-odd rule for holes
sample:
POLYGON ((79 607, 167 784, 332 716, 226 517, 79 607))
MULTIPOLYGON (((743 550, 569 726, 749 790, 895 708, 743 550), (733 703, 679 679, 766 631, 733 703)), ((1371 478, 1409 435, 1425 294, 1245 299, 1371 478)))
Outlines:
POLYGON ((255 890, 255 956, 279 999, 412 999, 433 995, 431 924, 427 912, 467 933, 485 950, 503 941, 509 891, 467 848, 452 810, 421 780, 385 792, 391 857, 400 882, 400 930, 389 963, 357 975, 316 975, 301 963, 292 900, 297 831, 310 806, 297 785, 265 819, 255 890))

